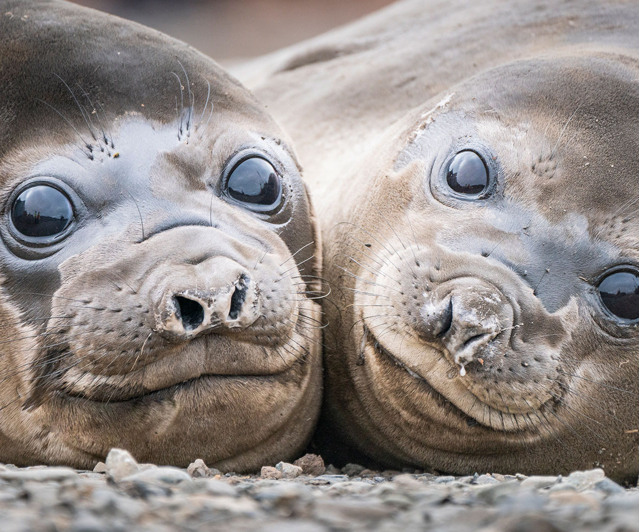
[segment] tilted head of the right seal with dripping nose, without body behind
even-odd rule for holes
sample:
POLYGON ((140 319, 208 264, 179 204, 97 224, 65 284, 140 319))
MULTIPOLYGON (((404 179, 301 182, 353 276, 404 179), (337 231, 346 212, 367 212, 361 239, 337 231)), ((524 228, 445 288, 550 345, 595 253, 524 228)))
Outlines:
POLYGON ((326 237, 344 287, 328 414, 352 445, 457 474, 636 476, 638 67, 510 63, 371 147, 326 237))

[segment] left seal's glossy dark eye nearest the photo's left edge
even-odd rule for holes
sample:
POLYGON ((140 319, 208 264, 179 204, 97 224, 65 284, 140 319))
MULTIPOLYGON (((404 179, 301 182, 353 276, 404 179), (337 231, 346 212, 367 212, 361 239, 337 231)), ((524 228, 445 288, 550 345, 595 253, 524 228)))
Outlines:
POLYGON ((63 232, 72 220, 71 201, 53 186, 30 186, 13 201, 11 221, 24 236, 55 236, 63 232))

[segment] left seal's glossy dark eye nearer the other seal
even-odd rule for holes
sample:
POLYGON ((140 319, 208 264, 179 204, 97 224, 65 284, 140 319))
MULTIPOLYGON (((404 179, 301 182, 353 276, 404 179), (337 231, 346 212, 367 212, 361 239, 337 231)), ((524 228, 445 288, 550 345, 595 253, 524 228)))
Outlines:
POLYGON ((272 211, 282 199, 282 183, 273 165, 261 157, 250 157, 236 165, 226 181, 235 201, 254 211, 272 211))

